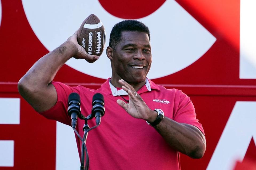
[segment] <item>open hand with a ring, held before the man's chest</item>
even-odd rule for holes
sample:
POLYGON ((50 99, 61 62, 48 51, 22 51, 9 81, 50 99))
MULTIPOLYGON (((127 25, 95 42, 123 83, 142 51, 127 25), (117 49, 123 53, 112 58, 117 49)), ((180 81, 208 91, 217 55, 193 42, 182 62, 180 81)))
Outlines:
POLYGON ((118 82, 122 85, 122 89, 128 93, 130 101, 129 103, 125 103, 118 99, 117 103, 132 117, 153 122, 157 118, 157 113, 146 105, 141 96, 134 90, 133 86, 122 79, 118 80, 118 82))

